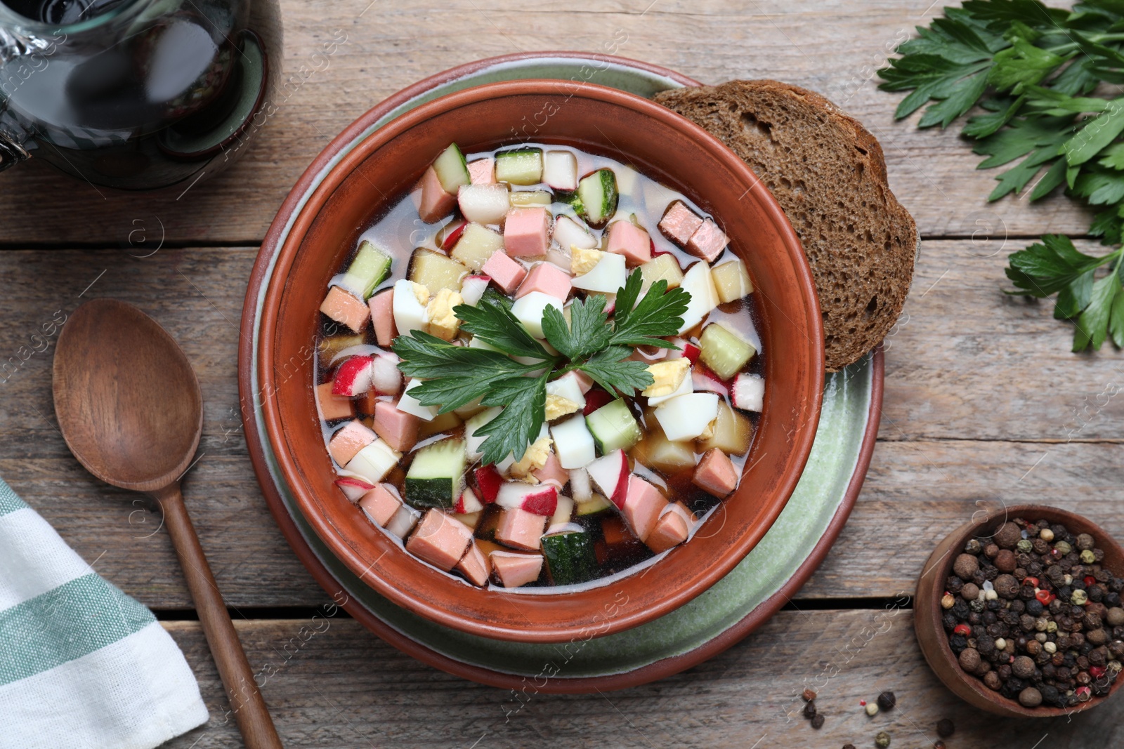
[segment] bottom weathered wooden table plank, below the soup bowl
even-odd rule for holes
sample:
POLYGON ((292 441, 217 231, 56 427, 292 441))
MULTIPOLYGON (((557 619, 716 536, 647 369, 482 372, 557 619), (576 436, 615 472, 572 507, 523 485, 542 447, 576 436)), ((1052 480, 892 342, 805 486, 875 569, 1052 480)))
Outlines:
MULTIPOLYGON (((211 713, 165 746, 239 746, 198 625, 165 627, 211 713)), ((870 747, 885 730, 891 747, 912 748, 932 746, 943 718, 955 723, 948 740, 955 749, 1033 747, 1046 736, 1042 746, 1053 749, 1124 742, 1120 697, 1072 721, 999 719, 960 702, 925 665, 908 611, 783 612, 709 663, 655 684, 592 695, 540 694, 532 684, 518 698, 434 670, 354 621, 238 630, 251 663, 271 674, 262 692, 292 747, 870 747), (819 694, 819 731, 795 712, 806 686, 819 694), (859 701, 882 689, 894 691, 897 707, 868 718, 859 701)))

